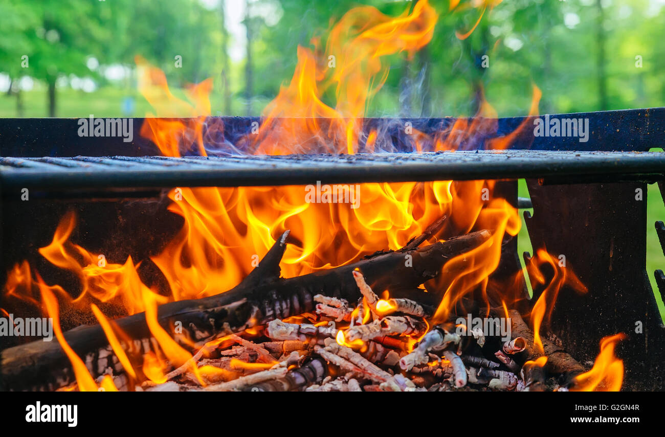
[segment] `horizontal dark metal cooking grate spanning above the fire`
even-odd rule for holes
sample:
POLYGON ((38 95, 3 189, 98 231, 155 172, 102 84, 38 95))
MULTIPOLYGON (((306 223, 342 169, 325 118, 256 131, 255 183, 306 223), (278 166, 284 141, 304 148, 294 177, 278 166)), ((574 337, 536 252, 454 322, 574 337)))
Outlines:
POLYGON ((446 151, 224 157, 0 157, 3 190, 237 187, 473 179, 654 181, 664 152, 446 151))

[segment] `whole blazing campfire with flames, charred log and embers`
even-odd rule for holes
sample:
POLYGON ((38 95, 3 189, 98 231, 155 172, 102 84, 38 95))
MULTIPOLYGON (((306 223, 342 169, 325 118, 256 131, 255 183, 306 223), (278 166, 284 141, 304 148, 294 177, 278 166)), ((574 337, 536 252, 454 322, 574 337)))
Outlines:
MULTIPOLYGON (((589 338, 556 335, 567 323, 557 319, 561 300, 595 298, 604 291, 592 288, 597 280, 587 282, 591 275, 578 276, 578 268, 587 272, 586 266, 548 250, 537 238, 532 237, 533 256, 520 265, 515 177, 452 181, 418 173, 429 165, 426 160, 452 167, 455 159, 486 159, 495 169, 494 163, 505 158, 499 173, 521 162, 507 149, 528 148, 521 147, 527 137, 531 145, 540 90, 533 88, 529 115, 517 122, 497 121, 487 102, 475 117, 446 123, 365 116, 368 98, 387 77, 386 58, 401 52, 412 56, 428 44, 437 18, 426 0, 399 17, 372 7, 352 9, 332 27, 325 46, 313 41, 313 48, 299 48, 291 82, 263 117, 240 122, 210 116, 210 80, 191 86, 189 101, 178 100, 164 73, 137 58, 140 89, 156 112, 137 128, 159 157, 137 152, 2 158, 4 166, 32 169, 44 178, 51 177, 49 165, 71 171, 54 173, 55 183, 75 179, 80 166, 88 173, 79 180, 90 181, 108 165, 118 172, 107 181, 130 181, 144 171, 152 177, 156 163, 166 166, 152 179, 111 187, 136 190, 161 187, 160 175, 171 171, 186 178, 197 169, 232 173, 240 168, 246 171, 237 174, 251 178, 293 162, 310 172, 305 176, 301 167, 285 167, 280 173, 287 181, 301 174, 303 185, 281 180, 233 185, 229 178, 222 187, 198 179, 200 185, 174 184, 150 201, 123 201, 118 211, 128 211, 129 205, 140 214, 99 217, 104 223, 136 220, 125 228, 135 234, 116 233, 115 240, 104 240, 103 229, 82 228, 74 209, 57 224, 42 224, 52 240, 36 246, 31 261, 10 266, 0 311, 9 320, 5 329, 13 331, 25 315, 47 317, 57 341, 17 341, 4 349, 3 388, 620 390, 624 361, 615 349, 628 339, 622 332, 629 328, 620 325, 589 338), (329 54, 336 56, 334 69, 323 62, 329 54), (326 104, 323 96, 333 91, 336 104, 326 104), (183 113, 190 118, 175 117, 183 113), (244 128, 237 129, 238 123, 244 128), (358 164, 356 157, 366 161, 358 164), (225 167, 215 169, 217 163, 225 167), (315 179, 317 169, 331 163, 350 169, 369 164, 350 176, 336 175, 342 167, 333 165, 321 173, 327 179, 315 179), (372 180, 377 177, 373 163, 384 165, 378 166, 381 181, 372 180), (181 165, 194 170, 178 173, 181 165), (419 175, 400 175, 400 165, 419 175), (149 228, 145 217, 159 217, 150 223, 164 227, 149 228), (82 240, 88 232, 103 242, 86 247, 82 240), (123 240, 132 238, 151 245, 139 251, 142 258, 121 253, 123 240), (588 346, 591 339, 593 351, 585 350, 595 359, 571 353, 582 349, 578 341, 588 346)), ((592 120, 589 129, 595 126, 592 120)), ((589 144, 595 134, 598 130, 587 129, 589 144)), ((630 164, 643 158, 635 155, 625 157, 628 165, 621 171, 641 177, 662 169, 660 157, 656 163, 630 164)), ((597 158, 604 159, 580 152, 569 161, 607 167, 597 158)), ((561 168, 550 176, 567 177, 561 168)), ((5 174, 12 187, 9 179, 18 173, 5 174)), ((29 179, 17 177, 15 186, 29 179)), ((530 183, 546 186, 537 179, 530 183)), ((112 191, 120 198, 126 193, 112 191)), ((533 201, 537 208, 538 200, 533 201)), ((90 217, 83 222, 90 224, 90 217)), ((549 228, 542 226, 541 232, 549 228)))

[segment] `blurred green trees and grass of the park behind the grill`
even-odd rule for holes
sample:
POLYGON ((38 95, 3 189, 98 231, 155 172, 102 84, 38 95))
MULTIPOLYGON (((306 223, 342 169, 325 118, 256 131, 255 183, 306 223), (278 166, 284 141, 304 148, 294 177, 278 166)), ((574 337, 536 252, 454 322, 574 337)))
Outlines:
MULTIPOLYGON (((299 44, 325 39, 352 7, 396 16, 414 3, 0 0, 0 117, 144 116, 136 55, 164 70, 176 96, 213 78, 213 115, 258 115, 291 79, 299 44)), ((430 3, 434 39, 390 59, 366 115, 471 116, 484 91, 499 116, 522 116, 534 84, 541 114, 665 106, 665 0, 462 0, 452 12, 450 0, 430 3)), ((648 201, 649 222, 664 219, 654 185, 648 201)), ((648 242, 654 284, 665 257, 652 227, 648 242)))

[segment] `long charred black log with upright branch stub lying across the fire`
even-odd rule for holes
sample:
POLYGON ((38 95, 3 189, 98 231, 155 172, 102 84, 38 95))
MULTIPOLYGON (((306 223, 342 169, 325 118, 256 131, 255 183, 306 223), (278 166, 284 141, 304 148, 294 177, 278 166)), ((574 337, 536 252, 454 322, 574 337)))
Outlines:
MULTIPOLYGON (((355 269, 375 290, 390 290, 391 296, 435 306, 439 297, 422 292, 418 286, 438 276, 448 260, 479 246, 490 235, 488 230, 481 230, 404 252, 377 252, 353 264, 285 279, 280 278, 279 262, 286 248, 287 230, 238 286, 207 298, 163 304, 158 307, 158 321, 167 331, 178 321, 192 330, 192 337, 195 329, 210 336, 229 327, 239 332, 276 318, 313 311, 316 294, 354 302, 360 298, 352 276, 355 269), (410 263, 405 262, 406 256, 410 256, 410 263)), ((154 345, 154 341, 139 341, 151 337, 144 313, 120 317, 115 323, 144 349, 154 345)), ((98 365, 100 351, 110 359, 100 325, 76 327, 65 333, 65 339, 89 363, 92 377, 98 376, 98 368, 102 367, 98 365)), ((73 381, 70 362, 57 341, 35 341, 0 353, 0 390, 52 391, 73 381)))

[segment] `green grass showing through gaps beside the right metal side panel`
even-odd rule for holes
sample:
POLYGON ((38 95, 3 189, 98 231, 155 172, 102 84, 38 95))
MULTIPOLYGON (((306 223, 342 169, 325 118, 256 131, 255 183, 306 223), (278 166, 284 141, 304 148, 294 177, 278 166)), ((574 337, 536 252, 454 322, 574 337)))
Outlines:
MULTIPOLYGON (((529 197, 529 191, 524 179, 519 181, 519 196, 529 197)), ((660 317, 662 320, 665 320, 665 306, 660 296, 660 292, 658 292, 656 280, 654 279, 654 270, 665 270, 665 255, 663 254, 662 248, 660 247, 660 242, 658 242, 658 236, 656 235, 656 228, 654 226, 656 220, 665 220, 665 204, 663 203, 663 199, 660 195, 660 190, 658 189, 657 184, 648 185, 646 201, 646 272, 651 282, 651 288, 654 290, 654 298, 656 298, 656 304, 658 304, 660 317)), ((533 214, 533 209, 528 209, 527 211, 533 214)), ((527 232, 522 214, 521 219, 522 228, 517 235, 517 250, 519 253, 520 261, 523 263, 523 252, 529 252, 533 255, 533 248, 531 247, 529 233, 527 232)), ((573 270, 574 269, 575 266, 573 266, 573 270)), ((593 293, 593 290, 589 291, 593 293)), ((530 287, 529 293, 531 293, 530 287)))

